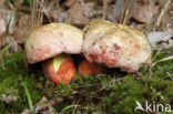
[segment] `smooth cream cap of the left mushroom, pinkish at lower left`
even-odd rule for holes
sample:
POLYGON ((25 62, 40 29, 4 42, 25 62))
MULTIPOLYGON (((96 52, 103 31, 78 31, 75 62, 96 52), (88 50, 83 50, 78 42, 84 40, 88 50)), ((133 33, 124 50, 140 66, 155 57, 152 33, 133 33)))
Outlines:
POLYGON ((81 52, 83 32, 67 23, 50 23, 34 28, 26 42, 26 56, 29 63, 37 63, 62 52, 81 52))

